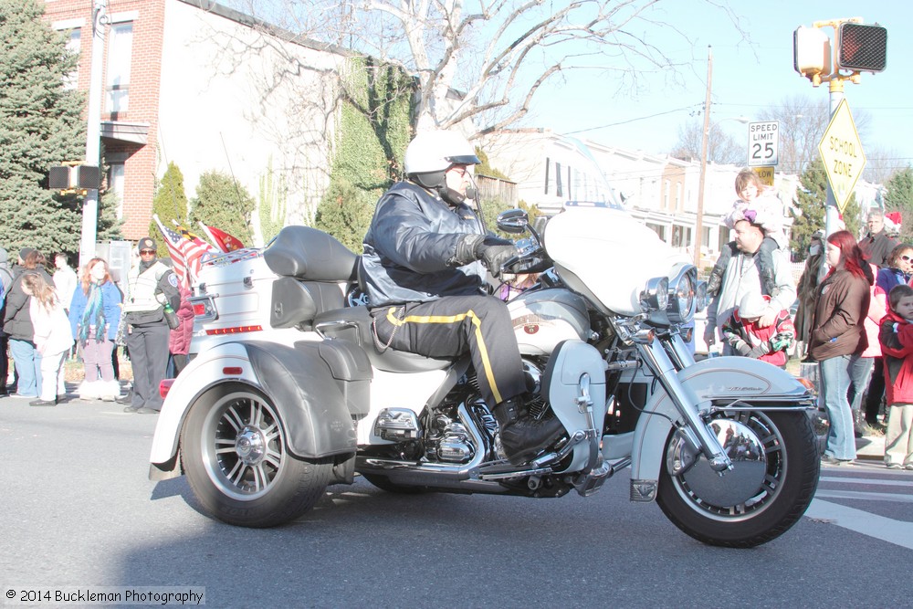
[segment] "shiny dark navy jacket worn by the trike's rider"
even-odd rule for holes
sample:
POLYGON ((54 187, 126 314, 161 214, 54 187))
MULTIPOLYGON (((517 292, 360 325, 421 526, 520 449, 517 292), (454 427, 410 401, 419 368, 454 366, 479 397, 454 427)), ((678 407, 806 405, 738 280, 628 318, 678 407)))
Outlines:
POLYGON ((487 293, 481 263, 447 266, 466 234, 485 234, 468 205, 452 207, 415 184, 394 184, 364 236, 362 281, 371 305, 487 293))

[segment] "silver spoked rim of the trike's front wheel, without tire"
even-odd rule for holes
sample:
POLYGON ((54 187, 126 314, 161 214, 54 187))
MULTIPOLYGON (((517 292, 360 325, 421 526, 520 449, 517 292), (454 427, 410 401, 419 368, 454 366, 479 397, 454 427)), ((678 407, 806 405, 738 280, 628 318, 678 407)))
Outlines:
MULTIPOLYGON (((721 522, 738 522, 756 517, 764 509, 767 509, 782 492, 783 482, 787 473, 786 446, 780 430, 771 422, 771 419, 760 411, 739 412, 729 415, 720 415, 714 418, 714 421, 720 423, 733 422, 741 429, 750 431, 751 435, 757 441, 758 446, 763 450, 763 458, 758 460, 757 465, 763 467, 763 471, 757 475, 757 488, 744 492, 746 499, 739 500, 736 503, 729 504, 728 501, 711 500, 705 496, 702 497, 696 487, 698 484, 691 485, 688 478, 699 479, 701 482, 707 480, 706 477, 695 477, 692 470, 679 476, 672 477, 672 486, 676 489, 678 495, 685 500, 690 509, 694 509, 702 516, 711 520, 721 522)), ((698 461, 695 468, 706 467, 709 469, 707 460, 703 457, 698 461)), ((739 467, 738 465, 736 467, 739 467)), ((755 476, 755 474, 751 474, 755 476)), ((725 485, 726 476, 719 478, 721 485, 725 485)), ((725 493, 719 493, 724 496, 725 493)))

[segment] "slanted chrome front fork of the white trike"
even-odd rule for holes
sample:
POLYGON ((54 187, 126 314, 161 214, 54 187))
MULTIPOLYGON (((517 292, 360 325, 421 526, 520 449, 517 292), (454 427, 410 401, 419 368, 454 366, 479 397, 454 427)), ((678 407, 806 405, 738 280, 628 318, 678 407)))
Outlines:
MULTIPOLYGON (((723 447, 720 446, 717 436, 710 431, 707 424, 701 418, 698 410, 698 396, 694 394, 684 383, 678 380, 678 370, 675 362, 672 361, 669 353, 666 352, 664 345, 658 340, 650 342, 637 343, 637 349, 641 358, 656 374, 656 379, 666 390, 673 404, 676 404, 678 412, 685 418, 687 425, 679 428, 679 433, 707 457, 709 466, 718 472, 723 472, 732 468, 732 462, 726 456, 723 447)), ((690 352, 680 337, 673 337, 670 351, 678 360, 678 364, 694 362, 690 352)), ((683 366, 687 367, 687 365, 683 366)))

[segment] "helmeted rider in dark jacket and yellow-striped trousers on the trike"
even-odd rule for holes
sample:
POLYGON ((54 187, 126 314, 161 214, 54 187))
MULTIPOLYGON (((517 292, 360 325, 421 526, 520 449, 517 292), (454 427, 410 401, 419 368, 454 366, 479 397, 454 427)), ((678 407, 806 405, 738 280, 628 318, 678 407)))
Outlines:
POLYGON ((497 275, 517 250, 488 236, 466 204, 478 162, 454 131, 417 135, 405 152, 406 181, 377 202, 364 236, 362 278, 379 348, 429 357, 469 351, 501 446, 521 464, 557 439, 562 426, 523 409, 526 382, 507 304, 488 295, 482 266, 497 275))

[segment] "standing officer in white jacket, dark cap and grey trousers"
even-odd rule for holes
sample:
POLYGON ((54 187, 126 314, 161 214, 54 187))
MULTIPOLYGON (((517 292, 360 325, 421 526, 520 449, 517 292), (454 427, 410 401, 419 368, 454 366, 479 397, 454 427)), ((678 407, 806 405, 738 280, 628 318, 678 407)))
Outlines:
POLYGON ((125 413, 157 414, 162 410, 159 383, 168 365, 171 329, 164 318, 164 303, 181 306, 177 276, 156 257, 155 240, 144 236, 138 246, 139 264, 127 275, 123 312, 127 322, 127 350, 133 368, 133 391, 125 413))

